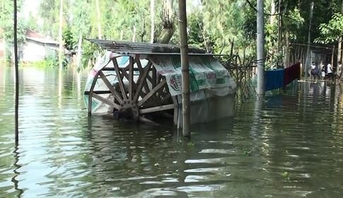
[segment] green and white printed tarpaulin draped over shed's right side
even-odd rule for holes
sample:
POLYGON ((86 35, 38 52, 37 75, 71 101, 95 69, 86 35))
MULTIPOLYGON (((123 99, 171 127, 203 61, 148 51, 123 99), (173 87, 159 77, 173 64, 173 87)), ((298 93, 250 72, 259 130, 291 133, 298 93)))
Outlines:
MULTIPOLYGON (((159 55, 150 57, 158 74, 165 76, 171 95, 182 93, 180 55, 159 55)), ((232 76, 214 57, 189 56, 190 91, 206 88, 236 89, 232 76)))

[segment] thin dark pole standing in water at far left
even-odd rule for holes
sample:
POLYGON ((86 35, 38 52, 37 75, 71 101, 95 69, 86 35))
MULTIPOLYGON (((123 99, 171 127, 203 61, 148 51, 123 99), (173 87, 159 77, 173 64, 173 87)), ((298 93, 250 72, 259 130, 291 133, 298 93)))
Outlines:
POLYGON ((16 69, 16 99, 15 99, 15 113, 14 113, 14 127, 16 133, 16 145, 19 144, 19 127, 18 127, 18 110, 19 110, 19 79, 18 79, 18 36, 17 36, 17 0, 13 1, 14 7, 14 68, 16 69))

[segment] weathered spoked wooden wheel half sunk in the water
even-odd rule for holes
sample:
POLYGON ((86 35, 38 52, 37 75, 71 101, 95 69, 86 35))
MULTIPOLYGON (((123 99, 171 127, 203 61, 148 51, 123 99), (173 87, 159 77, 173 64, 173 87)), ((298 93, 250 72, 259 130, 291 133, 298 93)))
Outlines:
MULTIPOLYGON (((165 77, 158 75, 156 68, 151 61, 143 67, 139 60, 139 56, 135 58, 129 57, 129 64, 122 68, 117 63, 117 57, 113 57, 110 62, 114 67, 108 67, 107 63, 102 69, 95 74, 90 91, 86 91, 88 95, 88 115, 91 116, 93 98, 100 100, 113 108, 114 115, 117 119, 127 118, 134 122, 141 121, 149 124, 158 124, 149 119, 146 115, 158 113, 158 116, 178 117, 178 108, 175 98, 170 95, 165 77), (136 64, 137 68, 134 68, 136 64), (117 85, 110 83, 103 71, 115 71, 117 76, 117 85), (134 81, 134 71, 139 71, 139 78, 134 81), (103 81, 107 90, 94 91, 97 81, 103 81), (128 81, 128 86, 124 82, 128 81), (127 88, 128 87, 128 88, 127 88), (112 97, 104 98, 102 94, 110 94, 112 97), (170 115, 165 110, 174 110, 174 115, 170 115), (116 116, 117 115, 117 116, 116 116)), ((175 120, 174 122, 177 122, 175 120)))

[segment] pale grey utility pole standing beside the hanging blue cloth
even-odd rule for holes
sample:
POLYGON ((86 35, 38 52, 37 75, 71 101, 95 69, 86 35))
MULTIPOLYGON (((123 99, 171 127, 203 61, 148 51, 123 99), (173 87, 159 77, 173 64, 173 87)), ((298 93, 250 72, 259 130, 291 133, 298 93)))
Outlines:
POLYGON ((257 94, 264 95, 264 0, 257 0, 257 94))

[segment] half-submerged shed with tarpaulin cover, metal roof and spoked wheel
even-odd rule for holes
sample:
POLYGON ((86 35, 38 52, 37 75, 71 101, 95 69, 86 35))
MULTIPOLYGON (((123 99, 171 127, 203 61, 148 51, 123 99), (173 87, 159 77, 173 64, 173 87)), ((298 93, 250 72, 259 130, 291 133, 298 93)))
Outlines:
MULTIPOLYGON (((107 52, 88 75, 84 93, 88 115, 151 124, 172 118, 175 125, 182 125, 178 45, 90 41, 107 52)), ((214 55, 190 48, 191 124, 233 115, 236 83, 214 55)))

